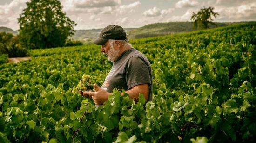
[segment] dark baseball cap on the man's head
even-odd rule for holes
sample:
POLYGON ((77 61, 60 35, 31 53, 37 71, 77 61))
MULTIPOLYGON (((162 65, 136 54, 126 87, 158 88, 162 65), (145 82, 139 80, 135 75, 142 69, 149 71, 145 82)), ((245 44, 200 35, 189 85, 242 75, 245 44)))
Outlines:
POLYGON ((113 40, 127 40, 126 32, 121 26, 118 25, 108 25, 105 27, 101 33, 100 36, 94 41, 94 44, 96 45, 103 45, 105 44, 109 39, 113 40))

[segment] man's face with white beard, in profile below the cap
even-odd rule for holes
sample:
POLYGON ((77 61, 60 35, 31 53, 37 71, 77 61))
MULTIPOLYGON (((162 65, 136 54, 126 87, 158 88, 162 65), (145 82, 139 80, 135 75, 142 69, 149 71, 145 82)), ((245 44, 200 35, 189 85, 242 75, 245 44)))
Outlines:
POLYGON ((101 45, 101 52, 104 56, 108 56, 108 61, 111 62, 115 62, 119 54, 119 50, 115 48, 115 43, 110 44, 109 40, 105 44, 101 45))

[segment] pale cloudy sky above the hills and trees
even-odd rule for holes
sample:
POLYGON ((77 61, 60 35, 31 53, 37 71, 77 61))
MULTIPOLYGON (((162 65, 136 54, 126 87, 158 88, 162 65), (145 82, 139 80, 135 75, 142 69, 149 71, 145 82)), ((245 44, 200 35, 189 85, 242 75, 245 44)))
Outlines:
MULTIPOLYGON (((30 0, 0 0, 0 26, 19 29, 17 18, 30 0)), ((157 22, 191 21, 192 12, 214 7, 215 22, 256 21, 256 0, 60 0, 75 30, 108 25, 138 28, 157 22)))

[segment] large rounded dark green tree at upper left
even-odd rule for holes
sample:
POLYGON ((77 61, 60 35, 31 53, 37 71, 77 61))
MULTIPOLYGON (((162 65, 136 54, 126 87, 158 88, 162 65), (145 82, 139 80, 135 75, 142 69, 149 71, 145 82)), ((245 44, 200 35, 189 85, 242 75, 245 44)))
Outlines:
POLYGON ((31 0, 18 18, 21 44, 29 49, 61 47, 74 34, 74 21, 58 0, 31 0))

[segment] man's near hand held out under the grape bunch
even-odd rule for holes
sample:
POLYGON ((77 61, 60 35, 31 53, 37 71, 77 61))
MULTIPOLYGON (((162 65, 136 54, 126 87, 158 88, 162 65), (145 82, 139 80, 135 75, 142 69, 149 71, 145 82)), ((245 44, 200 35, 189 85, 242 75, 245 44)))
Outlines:
POLYGON ((108 96, 111 94, 105 91, 104 89, 102 89, 101 87, 97 86, 96 84, 94 84, 94 90, 95 92, 93 91, 84 91, 84 92, 79 91, 79 92, 82 96, 93 99, 96 105, 103 104, 105 101, 108 100, 108 96))

